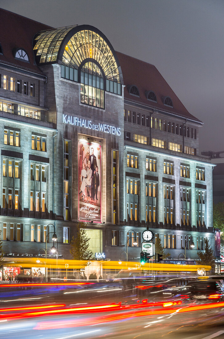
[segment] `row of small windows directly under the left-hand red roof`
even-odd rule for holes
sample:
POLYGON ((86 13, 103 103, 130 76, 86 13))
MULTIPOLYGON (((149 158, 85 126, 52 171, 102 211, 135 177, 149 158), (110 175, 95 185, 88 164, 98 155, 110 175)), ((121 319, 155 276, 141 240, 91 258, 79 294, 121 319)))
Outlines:
POLYGON ((29 92, 31 97, 35 96, 35 84, 33 82, 28 83, 28 81, 22 81, 20 79, 16 80, 15 78, 7 75, 3 75, 3 89, 23 93, 25 95, 28 95, 29 92))

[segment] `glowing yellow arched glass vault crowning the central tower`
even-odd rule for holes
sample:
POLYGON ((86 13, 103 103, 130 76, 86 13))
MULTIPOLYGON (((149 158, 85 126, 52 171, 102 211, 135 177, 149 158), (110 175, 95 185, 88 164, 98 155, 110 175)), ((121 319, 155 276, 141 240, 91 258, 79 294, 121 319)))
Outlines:
POLYGON ((102 67, 106 79, 121 82, 122 74, 115 51, 95 27, 82 25, 40 32, 34 38, 34 52, 39 64, 60 61, 75 69, 84 60, 94 59, 102 67))

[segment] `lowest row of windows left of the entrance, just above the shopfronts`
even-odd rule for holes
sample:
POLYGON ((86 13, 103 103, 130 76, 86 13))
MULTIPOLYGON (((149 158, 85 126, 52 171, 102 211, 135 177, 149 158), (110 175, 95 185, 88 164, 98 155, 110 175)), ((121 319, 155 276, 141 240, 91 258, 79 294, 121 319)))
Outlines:
MULTIPOLYGON (((45 242, 46 241, 46 229, 45 225, 30 225, 30 241, 45 242)), ((3 223, 3 232, 1 240, 8 241, 23 241, 23 224, 17 223, 3 223), (10 228, 9 228, 10 227, 10 228)), ((70 227, 63 227, 63 243, 70 243, 70 227)))

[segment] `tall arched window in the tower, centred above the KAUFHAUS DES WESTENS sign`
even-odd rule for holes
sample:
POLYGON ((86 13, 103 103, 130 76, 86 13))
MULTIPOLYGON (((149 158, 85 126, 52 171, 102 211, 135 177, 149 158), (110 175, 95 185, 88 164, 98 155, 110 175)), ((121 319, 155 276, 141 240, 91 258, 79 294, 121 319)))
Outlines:
POLYGON ((82 66, 80 83, 81 103, 104 108, 104 76, 96 63, 88 61, 82 66))

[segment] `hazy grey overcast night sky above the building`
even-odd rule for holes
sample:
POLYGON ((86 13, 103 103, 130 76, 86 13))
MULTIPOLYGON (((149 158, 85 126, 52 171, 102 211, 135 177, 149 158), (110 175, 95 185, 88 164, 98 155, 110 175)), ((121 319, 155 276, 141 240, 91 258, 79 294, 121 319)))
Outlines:
POLYGON ((223 0, 0 0, 0 7, 53 27, 97 27, 116 51, 154 64, 204 122, 200 151, 224 151, 223 0))

